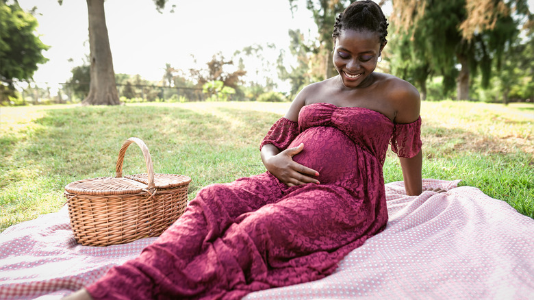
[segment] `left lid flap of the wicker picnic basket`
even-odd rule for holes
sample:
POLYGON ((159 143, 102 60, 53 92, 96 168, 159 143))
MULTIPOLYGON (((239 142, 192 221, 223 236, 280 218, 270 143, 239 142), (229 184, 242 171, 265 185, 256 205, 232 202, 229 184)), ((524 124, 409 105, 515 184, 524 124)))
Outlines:
POLYGON ((147 184, 120 177, 97 177, 71 182, 65 186, 67 192, 77 195, 125 195, 137 194, 147 188, 147 184))

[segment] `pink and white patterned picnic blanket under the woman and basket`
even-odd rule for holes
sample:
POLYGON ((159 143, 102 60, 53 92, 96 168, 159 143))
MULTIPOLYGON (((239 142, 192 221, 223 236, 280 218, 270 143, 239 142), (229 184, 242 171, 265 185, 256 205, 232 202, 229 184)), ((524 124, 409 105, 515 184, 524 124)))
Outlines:
MULTIPOLYGON (((244 299, 534 299, 534 220, 458 182, 423 179, 446 192, 418 197, 386 184, 386 229, 335 273, 244 299)), ((153 240, 77 245, 66 207, 14 225, 0 234, 0 299, 60 299, 153 240)))

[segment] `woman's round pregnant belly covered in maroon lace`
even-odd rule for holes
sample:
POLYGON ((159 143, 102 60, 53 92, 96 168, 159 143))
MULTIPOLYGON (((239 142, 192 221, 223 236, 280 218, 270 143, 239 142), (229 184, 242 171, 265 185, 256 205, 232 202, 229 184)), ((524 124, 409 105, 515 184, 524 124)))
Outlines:
POLYGON ((357 151, 348 136, 334 127, 311 127, 299 134, 289 147, 301 143, 304 149, 293 160, 319 172, 321 184, 355 177, 357 151))

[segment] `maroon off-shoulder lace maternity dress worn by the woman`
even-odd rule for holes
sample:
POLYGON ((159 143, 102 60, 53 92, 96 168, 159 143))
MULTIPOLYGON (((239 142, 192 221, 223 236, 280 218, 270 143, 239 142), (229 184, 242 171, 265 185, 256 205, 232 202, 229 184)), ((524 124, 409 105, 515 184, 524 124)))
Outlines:
POLYGON ((366 108, 314 103, 281 118, 262 145, 304 143, 294 160, 320 184, 288 187, 266 172, 203 188, 140 256, 87 287, 94 299, 239 299, 325 277, 387 223, 387 147, 420 151, 421 120, 394 124, 366 108))

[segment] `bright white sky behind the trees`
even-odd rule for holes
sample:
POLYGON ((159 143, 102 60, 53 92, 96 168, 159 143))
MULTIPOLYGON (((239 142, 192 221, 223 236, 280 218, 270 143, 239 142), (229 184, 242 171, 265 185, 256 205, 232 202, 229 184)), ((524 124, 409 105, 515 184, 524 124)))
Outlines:
MULTIPOLYGON (((66 82, 71 69, 83 64, 89 54, 86 1, 18 3, 24 10, 37 7, 37 32, 51 46, 43 52, 49 62, 38 65, 34 81, 39 86, 66 82)), ((292 16, 288 0, 169 0, 160 14, 153 0, 107 0, 105 18, 114 71, 160 80, 166 63, 188 70, 205 66, 219 51, 231 58, 236 50, 255 44, 274 43, 277 49, 288 49, 288 29, 312 36, 317 32, 305 0, 298 3, 292 16), (175 12, 171 13, 173 4, 175 12)))

